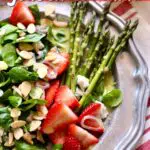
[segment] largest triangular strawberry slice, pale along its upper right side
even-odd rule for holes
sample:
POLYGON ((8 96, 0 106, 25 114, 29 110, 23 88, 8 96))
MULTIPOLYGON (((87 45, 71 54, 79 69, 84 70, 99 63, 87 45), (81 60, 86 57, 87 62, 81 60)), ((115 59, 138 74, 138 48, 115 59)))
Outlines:
POLYGON ((45 134, 51 134, 56 131, 56 129, 67 126, 70 123, 75 123, 78 117, 73 113, 73 111, 63 103, 55 103, 51 106, 43 121, 41 131, 45 134))

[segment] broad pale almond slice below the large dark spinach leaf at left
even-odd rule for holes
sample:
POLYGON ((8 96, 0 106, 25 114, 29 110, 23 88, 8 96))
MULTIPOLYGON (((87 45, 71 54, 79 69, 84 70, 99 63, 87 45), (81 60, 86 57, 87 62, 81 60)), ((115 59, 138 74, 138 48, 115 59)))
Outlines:
POLYGON ((27 97, 31 91, 32 85, 28 81, 23 81, 18 87, 24 97, 27 97))

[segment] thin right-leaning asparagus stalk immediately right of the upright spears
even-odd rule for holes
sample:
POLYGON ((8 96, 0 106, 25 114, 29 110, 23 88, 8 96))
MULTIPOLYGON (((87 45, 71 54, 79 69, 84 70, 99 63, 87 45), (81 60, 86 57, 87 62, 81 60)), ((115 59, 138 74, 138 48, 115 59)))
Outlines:
POLYGON ((82 41, 82 43, 81 43, 81 47, 80 47, 80 50, 79 50, 79 52, 78 52, 78 58, 77 58, 77 63, 76 63, 76 66, 77 66, 77 67, 79 66, 80 61, 81 61, 81 58, 83 57, 83 53, 84 53, 85 48, 88 46, 90 36, 91 36, 92 33, 93 33, 93 30, 94 30, 94 23, 95 23, 95 17, 96 17, 96 13, 93 12, 92 20, 91 20, 90 23, 88 24, 87 33, 86 33, 86 35, 83 37, 83 41, 82 41))

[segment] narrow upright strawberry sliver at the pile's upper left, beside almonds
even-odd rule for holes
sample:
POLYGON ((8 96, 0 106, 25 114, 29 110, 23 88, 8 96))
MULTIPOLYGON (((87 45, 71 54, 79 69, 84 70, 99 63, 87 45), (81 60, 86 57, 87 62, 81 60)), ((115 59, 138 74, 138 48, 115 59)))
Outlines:
POLYGON ((47 100, 47 107, 49 107, 55 98, 56 92, 59 88, 59 80, 54 80, 50 83, 50 87, 46 90, 45 99, 47 100))

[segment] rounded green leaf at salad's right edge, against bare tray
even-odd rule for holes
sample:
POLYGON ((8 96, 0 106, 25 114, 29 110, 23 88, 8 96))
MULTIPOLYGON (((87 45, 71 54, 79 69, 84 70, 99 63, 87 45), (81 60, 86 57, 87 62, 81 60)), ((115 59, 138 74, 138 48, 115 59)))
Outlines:
POLYGON ((102 102, 107 107, 117 107, 122 103, 122 92, 119 89, 113 89, 102 96, 102 102))

